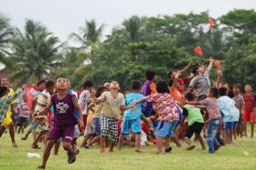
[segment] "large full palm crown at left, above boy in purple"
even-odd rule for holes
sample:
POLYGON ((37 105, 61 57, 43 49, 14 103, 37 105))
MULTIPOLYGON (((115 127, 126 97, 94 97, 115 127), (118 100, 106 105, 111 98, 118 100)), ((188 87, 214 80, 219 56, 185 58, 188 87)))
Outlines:
POLYGON ((45 75, 52 75, 61 62, 59 39, 44 25, 32 20, 26 21, 24 34, 18 29, 15 34, 11 58, 16 62, 16 73, 12 79, 21 77, 20 83, 23 83, 31 78, 39 80, 45 75))

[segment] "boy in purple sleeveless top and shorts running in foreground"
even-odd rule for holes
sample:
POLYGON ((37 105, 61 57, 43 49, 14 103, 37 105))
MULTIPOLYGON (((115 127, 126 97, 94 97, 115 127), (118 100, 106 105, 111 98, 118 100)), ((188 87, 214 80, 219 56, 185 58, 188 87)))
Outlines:
POLYGON ((79 111, 79 123, 83 126, 80 106, 75 96, 67 93, 68 85, 66 77, 60 75, 56 78, 56 89, 58 90, 58 94, 52 95, 49 104, 39 113, 39 115, 44 115, 49 111, 51 105, 54 107, 54 124, 48 134, 48 142, 44 151, 42 165, 38 166, 37 169, 46 168, 50 150, 59 140, 59 137, 62 137, 63 148, 68 152, 68 163, 72 164, 76 161, 76 153, 73 150, 71 142, 75 132, 75 125, 77 124, 75 109, 79 111))

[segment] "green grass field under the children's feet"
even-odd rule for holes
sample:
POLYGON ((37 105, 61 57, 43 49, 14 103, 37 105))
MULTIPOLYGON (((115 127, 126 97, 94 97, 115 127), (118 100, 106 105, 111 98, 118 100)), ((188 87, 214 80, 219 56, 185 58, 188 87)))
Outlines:
MULTIPOLYGON (((28 158, 27 153, 38 153, 43 150, 30 148, 32 136, 28 141, 21 141, 21 135, 16 135, 18 148, 13 148, 8 134, 0 139, 0 169, 29 170, 36 169, 41 159, 28 158)), ((79 140, 79 144, 81 138, 79 140)), ((256 138, 242 138, 232 145, 220 147, 214 155, 202 151, 197 144, 193 151, 186 151, 185 144, 181 148, 174 146, 173 152, 165 155, 155 155, 155 145, 144 148, 144 153, 134 153, 133 148, 124 147, 121 152, 100 154, 98 146, 91 150, 80 149, 77 161, 69 165, 67 155, 60 148, 59 155, 50 155, 47 169, 256 169, 256 138)), ((40 144, 41 145, 41 144, 40 144)))

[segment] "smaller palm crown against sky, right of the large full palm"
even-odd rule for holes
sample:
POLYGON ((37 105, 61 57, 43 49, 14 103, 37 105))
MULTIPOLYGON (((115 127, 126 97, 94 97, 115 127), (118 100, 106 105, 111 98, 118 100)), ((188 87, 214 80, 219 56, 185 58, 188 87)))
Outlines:
POLYGON ((69 37, 80 43, 80 49, 89 49, 91 56, 101 42, 104 25, 97 27, 95 20, 85 21, 85 26, 80 27, 80 34, 72 33, 69 37))

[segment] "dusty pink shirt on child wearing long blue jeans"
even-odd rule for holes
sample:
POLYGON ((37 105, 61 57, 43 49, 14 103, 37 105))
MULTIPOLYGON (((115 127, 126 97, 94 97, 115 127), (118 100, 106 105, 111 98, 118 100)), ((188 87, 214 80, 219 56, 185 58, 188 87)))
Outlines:
POLYGON ((209 120, 221 118, 220 112, 219 112, 219 105, 217 102, 217 98, 215 97, 208 97, 202 101, 199 102, 201 105, 205 105, 207 112, 208 112, 208 118, 209 120))

